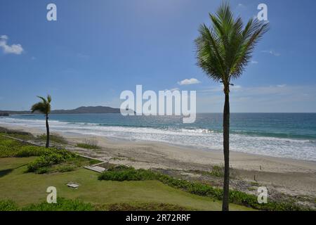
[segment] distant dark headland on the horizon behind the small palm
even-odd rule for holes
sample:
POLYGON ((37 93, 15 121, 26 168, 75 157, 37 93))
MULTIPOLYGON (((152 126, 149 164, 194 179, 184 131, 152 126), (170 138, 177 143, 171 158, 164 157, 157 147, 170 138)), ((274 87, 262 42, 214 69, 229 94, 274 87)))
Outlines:
MULTIPOLYGON (((14 114, 30 114, 31 111, 8 111, 0 110, 0 113, 14 114)), ((81 106, 74 110, 52 110, 51 114, 74 114, 74 113, 121 113, 119 108, 111 108, 107 106, 81 106)))

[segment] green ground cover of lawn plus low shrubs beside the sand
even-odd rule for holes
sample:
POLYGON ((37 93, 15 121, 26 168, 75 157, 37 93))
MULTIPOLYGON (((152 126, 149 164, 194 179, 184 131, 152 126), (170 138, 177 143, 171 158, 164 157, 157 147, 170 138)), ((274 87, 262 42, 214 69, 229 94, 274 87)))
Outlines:
MULTIPOLYGON (((13 209, 15 203, 10 200, 15 200, 19 207, 26 203, 44 204, 46 188, 55 186, 58 188, 59 197, 84 200, 85 203, 98 205, 98 209, 171 209, 173 205, 178 210, 182 207, 220 210, 223 195, 221 188, 125 166, 109 167, 107 172, 97 176, 95 172, 82 169, 82 166, 88 163, 96 162, 67 150, 29 146, 0 136, 0 200, 5 200, 1 207, 13 209), (13 156, 15 158, 11 158, 13 156), (25 171, 36 174, 26 174, 25 171), (65 185, 68 182, 80 184, 79 190, 68 188, 65 185), (22 197, 19 197, 19 194, 22 197)), ((221 170, 220 167, 213 168, 213 176, 221 176, 218 174, 221 170)), ((230 191, 230 203, 237 204, 232 205, 232 210, 249 210, 247 207, 258 210, 307 210, 292 203, 270 202, 259 205, 255 195, 240 191, 230 191)), ((67 202, 67 205, 71 204, 67 202)), ((74 203, 76 204, 77 202, 74 203)), ((46 206, 32 207, 40 210, 46 206)))

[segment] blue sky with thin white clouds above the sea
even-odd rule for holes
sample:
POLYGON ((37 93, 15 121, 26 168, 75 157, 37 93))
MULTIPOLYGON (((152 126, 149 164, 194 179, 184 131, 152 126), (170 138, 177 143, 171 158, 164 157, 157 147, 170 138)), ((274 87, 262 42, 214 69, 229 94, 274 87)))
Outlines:
MULTIPOLYGON (((0 109, 119 107, 121 91, 197 90, 198 112, 221 112, 223 93, 195 65, 194 39, 221 1, 0 1, 0 109), (55 3, 58 21, 46 20, 55 3), (198 84, 180 85, 195 78, 198 84)), ((231 91, 232 112, 316 112, 316 2, 230 1, 244 21, 268 6, 270 31, 231 91)))

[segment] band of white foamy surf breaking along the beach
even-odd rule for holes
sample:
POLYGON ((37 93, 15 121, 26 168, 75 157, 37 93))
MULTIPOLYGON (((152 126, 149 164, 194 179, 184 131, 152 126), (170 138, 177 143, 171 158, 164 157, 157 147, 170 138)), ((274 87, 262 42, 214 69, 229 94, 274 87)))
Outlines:
MULTIPOLYGON (((0 118, 0 126, 9 124, 45 131, 44 120, 0 118)), ((52 131, 71 132, 133 141, 161 141, 205 150, 221 150, 223 136, 207 129, 156 129, 149 127, 114 127, 92 123, 50 121, 52 131)), ((231 150, 284 158, 316 161, 316 143, 309 140, 280 139, 267 136, 230 135, 231 150)))

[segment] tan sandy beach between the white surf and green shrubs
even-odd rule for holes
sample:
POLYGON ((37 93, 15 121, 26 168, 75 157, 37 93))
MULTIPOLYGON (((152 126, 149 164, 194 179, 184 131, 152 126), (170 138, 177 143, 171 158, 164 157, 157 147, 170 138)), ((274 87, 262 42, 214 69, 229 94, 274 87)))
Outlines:
MULTIPOLYGON (((8 129, 27 131, 34 135, 43 134, 38 129, 4 126, 8 129)), ((54 132, 54 131, 53 131, 54 132)), ((200 150, 171 146, 165 143, 121 141, 101 136, 83 136, 59 132, 67 139, 67 149, 81 155, 103 160, 117 165, 135 168, 159 169, 185 179, 199 180, 214 186, 222 185, 222 178, 210 178, 203 172, 213 166, 223 165, 223 153, 219 150, 200 150), (100 150, 75 147, 77 143, 94 140, 100 150)), ((211 140, 210 140, 211 141, 211 140)), ((270 198, 296 198, 302 204, 315 207, 316 162, 274 158, 249 153, 230 153, 232 168, 231 187, 246 193, 256 194, 257 186, 266 186, 270 198)))

